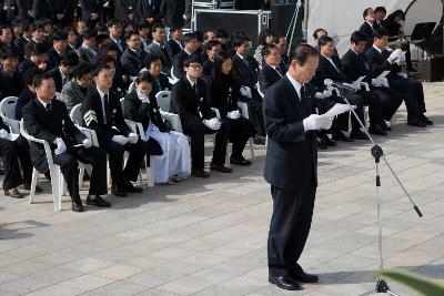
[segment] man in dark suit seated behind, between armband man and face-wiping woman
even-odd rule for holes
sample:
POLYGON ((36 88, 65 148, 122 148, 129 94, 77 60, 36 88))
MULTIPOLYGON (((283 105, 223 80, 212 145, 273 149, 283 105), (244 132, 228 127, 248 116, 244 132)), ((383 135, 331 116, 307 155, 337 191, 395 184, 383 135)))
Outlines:
POLYGON ((135 31, 127 34, 127 49, 120 58, 123 74, 129 76, 138 76, 143 68, 144 51, 140 49, 140 35, 135 31))

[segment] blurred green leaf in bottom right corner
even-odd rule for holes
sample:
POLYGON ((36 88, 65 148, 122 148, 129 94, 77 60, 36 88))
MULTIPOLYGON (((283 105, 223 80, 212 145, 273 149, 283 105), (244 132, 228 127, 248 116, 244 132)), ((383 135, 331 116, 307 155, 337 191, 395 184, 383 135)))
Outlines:
POLYGON ((384 271, 380 273, 382 277, 391 278, 400 282, 405 286, 425 295, 425 296, 443 296, 444 285, 437 280, 413 274, 404 271, 384 271))

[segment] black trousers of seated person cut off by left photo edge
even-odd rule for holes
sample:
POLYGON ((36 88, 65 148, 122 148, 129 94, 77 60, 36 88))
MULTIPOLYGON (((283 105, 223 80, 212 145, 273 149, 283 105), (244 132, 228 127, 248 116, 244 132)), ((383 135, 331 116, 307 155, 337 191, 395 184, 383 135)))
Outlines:
POLYGON ((3 190, 9 191, 21 184, 31 184, 32 164, 29 154, 28 141, 19 136, 16 141, 0 139, 0 156, 3 160, 4 180, 3 190), (23 176, 20 171, 20 165, 23 176))

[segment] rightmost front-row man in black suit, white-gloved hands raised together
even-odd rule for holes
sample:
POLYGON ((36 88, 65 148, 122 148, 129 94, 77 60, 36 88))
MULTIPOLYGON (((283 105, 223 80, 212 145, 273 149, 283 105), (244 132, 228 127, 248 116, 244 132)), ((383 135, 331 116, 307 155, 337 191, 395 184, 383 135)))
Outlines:
POLYGON ((424 113, 424 91, 423 84, 416 79, 410 79, 398 75, 402 70, 404 54, 401 50, 390 52, 386 50, 389 33, 385 29, 379 28, 374 30, 373 47, 366 52, 366 61, 370 69, 376 74, 390 70, 386 79, 391 89, 403 94, 405 106, 407 108, 407 125, 425 127, 433 124, 424 113))

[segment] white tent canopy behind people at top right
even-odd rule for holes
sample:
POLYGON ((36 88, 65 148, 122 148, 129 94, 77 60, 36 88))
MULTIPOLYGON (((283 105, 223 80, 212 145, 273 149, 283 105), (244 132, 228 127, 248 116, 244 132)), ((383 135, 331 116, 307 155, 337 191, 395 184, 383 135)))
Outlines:
POLYGON ((410 34, 418 22, 434 21, 440 23, 443 14, 442 0, 306 0, 306 35, 313 44, 313 31, 323 28, 336 43, 340 55, 350 48, 350 35, 364 22, 362 12, 365 8, 385 7, 387 16, 401 9, 408 12, 405 19, 405 33, 410 34))

